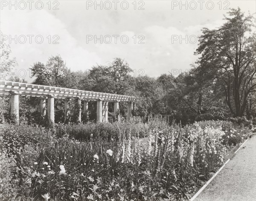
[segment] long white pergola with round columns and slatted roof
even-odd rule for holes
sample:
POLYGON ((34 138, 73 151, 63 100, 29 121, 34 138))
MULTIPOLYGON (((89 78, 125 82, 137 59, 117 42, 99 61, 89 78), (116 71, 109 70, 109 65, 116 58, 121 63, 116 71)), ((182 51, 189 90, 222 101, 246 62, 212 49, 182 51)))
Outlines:
MULTIPOLYGON (((11 95, 10 114, 15 115, 16 122, 19 121, 19 95, 40 98, 40 112, 42 116, 47 113, 49 122, 54 122, 54 99, 64 99, 65 120, 67 118, 68 104, 70 99, 77 99, 79 103, 79 119, 81 122, 81 101, 83 100, 83 113, 88 110, 88 101, 97 101, 97 121, 108 121, 108 103, 113 102, 114 114, 119 110, 119 102, 128 103, 127 119, 132 118, 132 110, 136 108, 137 97, 127 95, 108 94, 102 92, 90 92, 78 89, 67 89, 55 86, 43 86, 29 83, 0 81, 0 95, 11 95)), ((115 118, 118 116, 114 115, 115 118)), ((64 121, 65 121, 64 120, 64 121)))

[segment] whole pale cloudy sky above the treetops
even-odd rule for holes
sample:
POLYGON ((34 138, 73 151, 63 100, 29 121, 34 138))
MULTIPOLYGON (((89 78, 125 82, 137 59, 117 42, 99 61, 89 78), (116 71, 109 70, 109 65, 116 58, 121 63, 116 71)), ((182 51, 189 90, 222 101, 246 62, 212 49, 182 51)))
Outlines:
POLYGON ((230 8, 256 12, 256 1, 1 1, 1 42, 17 66, 12 75, 32 81, 29 68, 60 55, 72 71, 125 59, 133 75, 177 76, 198 56, 201 29, 224 23, 230 8))

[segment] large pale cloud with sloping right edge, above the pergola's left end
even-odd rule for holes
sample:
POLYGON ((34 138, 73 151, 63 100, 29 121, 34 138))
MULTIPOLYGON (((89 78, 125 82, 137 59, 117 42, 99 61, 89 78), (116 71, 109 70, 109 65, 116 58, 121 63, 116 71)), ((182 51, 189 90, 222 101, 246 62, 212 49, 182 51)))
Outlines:
POLYGON ((96 63, 101 63, 96 52, 89 52, 79 46, 78 41, 67 31, 65 23, 46 10, 3 10, 3 12, 1 31, 8 37, 15 38, 17 35, 16 41, 6 42, 12 48, 11 56, 17 59, 18 69, 28 69, 38 61, 45 63, 49 56, 57 54, 61 55, 67 67, 73 71, 90 69, 96 63), (23 43, 25 39, 26 43, 19 43, 20 41, 23 43))

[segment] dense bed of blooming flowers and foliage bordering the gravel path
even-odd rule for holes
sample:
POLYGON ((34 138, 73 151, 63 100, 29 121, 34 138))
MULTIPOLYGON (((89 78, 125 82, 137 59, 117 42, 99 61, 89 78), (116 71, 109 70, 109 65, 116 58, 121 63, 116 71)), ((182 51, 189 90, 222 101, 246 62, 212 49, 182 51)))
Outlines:
MULTIPOLYGON (((91 137, 86 127, 88 138, 70 138, 78 136, 74 134, 77 130, 79 136, 84 135, 82 125, 65 127, 73 132, 61 138, 53 136, 61 133, 56 129, 40 129, 40 134, 35 132, 37 141, 17 143, 18 147, 14 143, 12 152, 8 152, 10 139, 23 135, 27 128, 6 128, 1 150, 7 151, 1 151, 0 157, 6 161, 12 157, 12 177, 9 174, 4 181, 9 179, 13 196, 26 200, 186 200, 221 167, 229 146, 251 135, 248 129, 225 121, 198 122, 183 128, 159 122, 102 127, 114 129, 116 137, 111 133, 106 135, 111 138, 101 138, 100 133, 91 137), (144 136, 147 140, 141 143, 144 136)), ((33 129, 38 131, 28 130, 33 129)), ((9 190, 0 190, 3 198, 6 192, 9 190)))

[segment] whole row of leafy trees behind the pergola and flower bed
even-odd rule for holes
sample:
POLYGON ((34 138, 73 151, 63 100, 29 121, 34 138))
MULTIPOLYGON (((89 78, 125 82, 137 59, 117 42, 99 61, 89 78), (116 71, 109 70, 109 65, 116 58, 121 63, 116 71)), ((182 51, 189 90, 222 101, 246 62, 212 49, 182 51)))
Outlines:
MULTIPOLYGON (((73 72, 56 55, 49 57, 45 64, 34 63, 33 83, 138 96, 134 115, 145 119, 162 115, 169 121, 192 123, 228 117, 253 118, 256 117, 256 32, 253 29, 252 15, 245 15, 239 8, 231 9, 221 27, 202 29, 195 51, 199 59, 189 72, 177 77, 171 73, 157 78, 134 77, 129 64, 121 58, 114 58, 109 65, 93 66, 89 72, 73 72)), ((1 49, 5 50, 1 50, 5 58, 1 61, 2 68, 11 68, 14 61, 9 59, 10 50, 2 43, 1 49)), ((61 100, 55 104, 59 108, 57 113, 62 114, 61 100)), ((92 104, 92 119, 95 109, 92 104)), ((125 103, 120 105, 120 112, 125 116, 125 103)))

